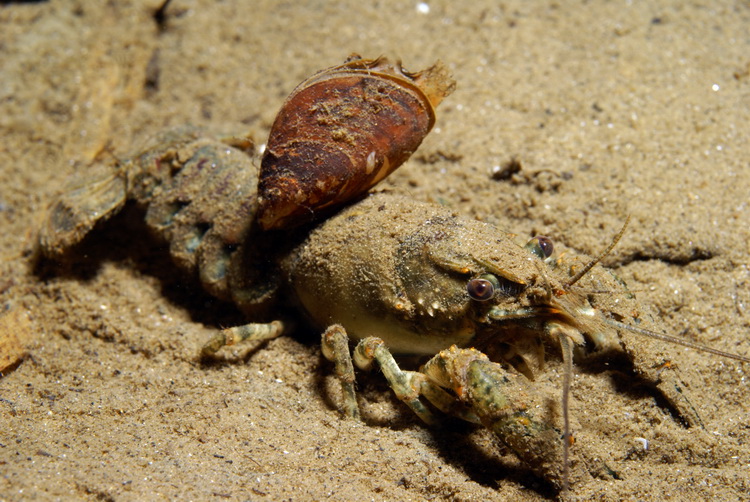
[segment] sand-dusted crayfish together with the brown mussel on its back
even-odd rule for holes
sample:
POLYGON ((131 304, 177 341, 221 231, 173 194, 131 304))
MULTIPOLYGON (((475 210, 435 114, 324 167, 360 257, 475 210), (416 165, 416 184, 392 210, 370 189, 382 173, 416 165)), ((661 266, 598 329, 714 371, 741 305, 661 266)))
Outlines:
POLYGON ((663 342, 750 359, 661 334, 642 317, 633 294, 598 265, 622 231, 594 259, 565 258, 544 236, 519 245, 444 207, 368 194, 419 146, 453 87, 439 63, 412 74, 386 59, 350 58, 293 92, 260 169, 249 138, 168 132, 64 193, 40 249, 69 252, 131 200, 182 270, 255 321, 219 332, 204 357, 279 336, 301 317, 323 331, 345 415, 359 417, 354 367, 377 365, 422 420, 434 423, 439 410, 484 425, 558 489, 611 476, 585 445, 571 446, 576 347, 623 351, 689 425, 700 425, 696 400, 678 368, 655 364, 667 360, 663 342), (630 337, 646 341, 634 348, 630 337), (562 419, 533 383, 550 349, 564 366, 562 419), (432 358, 404 370, 400 354, 432 358))

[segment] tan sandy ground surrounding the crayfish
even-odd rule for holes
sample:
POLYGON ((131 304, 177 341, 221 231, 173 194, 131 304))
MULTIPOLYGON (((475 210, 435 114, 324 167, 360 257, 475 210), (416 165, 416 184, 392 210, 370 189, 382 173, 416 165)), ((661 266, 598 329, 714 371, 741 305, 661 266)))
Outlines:
MULTIPOLYGON (((363 423, 341 419, 316 333, 200 363, 241 318, 127 215, 70 268, 30 266, 46 206, 97 155, 184 123, 262 142, 291 89, 351 52, 442 59, 458 81, 388 187, 588 254, 629 214, 605 262, 661 328, 750 354, 746 2, 175 0, 161 24, 158 4, 0 6, 0 499, 555 497, 486 431, 423 426, 377 374, 359 376, 363 423), (519 176, 493 178, 511 159, 519 176)), ((750 498, 748 366, 670 350, 705 428, 626 362, 579 364, 577 441, 621 479, 571 498, 750 498)))

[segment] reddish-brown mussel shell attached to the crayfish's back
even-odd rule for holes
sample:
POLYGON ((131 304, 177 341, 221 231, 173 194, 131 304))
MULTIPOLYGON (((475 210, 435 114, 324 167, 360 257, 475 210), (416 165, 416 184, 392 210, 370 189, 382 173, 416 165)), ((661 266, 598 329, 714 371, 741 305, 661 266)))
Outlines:
POLYGON ((409 73, 398 62, 356 55, 302 82, 263 154, 261 227, 294 227, 364 194, 417 149, 454 88, 440 62, 409 73))

